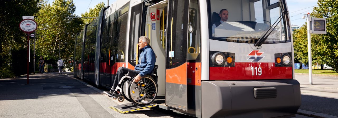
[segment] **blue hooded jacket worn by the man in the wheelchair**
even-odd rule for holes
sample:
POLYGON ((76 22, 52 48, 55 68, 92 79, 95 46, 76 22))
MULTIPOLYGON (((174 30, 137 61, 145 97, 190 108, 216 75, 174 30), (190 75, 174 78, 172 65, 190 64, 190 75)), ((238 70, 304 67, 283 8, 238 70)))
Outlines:
POLYGON ((135 66, 135 70, 141 71, 141 76, 149 74, 155 67, 156 57, 150 46, 145 46, 141 49, 139 63, 135 66))

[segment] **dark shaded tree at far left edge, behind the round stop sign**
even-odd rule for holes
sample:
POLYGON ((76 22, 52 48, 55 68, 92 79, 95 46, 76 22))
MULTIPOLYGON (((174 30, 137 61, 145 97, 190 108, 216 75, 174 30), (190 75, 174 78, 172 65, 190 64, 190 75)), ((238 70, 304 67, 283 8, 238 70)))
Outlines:
MULTIPOLYGON (((13 59, 11 55, 17 52, 27 51, 26 34, 18 25, 22 16, 34 16, 41 7, 40 0, 2 0, 0 2, 0 78, 14 77, 18 71, 13 63, 27 65, 27 62, 20 62, 13 59)), ((21 58, 26 58, 24 57, 21 58)), ((30 64, 31 65, 31 64, 30 64)), ((21 66, 21 68, 24 68, 21 66)))

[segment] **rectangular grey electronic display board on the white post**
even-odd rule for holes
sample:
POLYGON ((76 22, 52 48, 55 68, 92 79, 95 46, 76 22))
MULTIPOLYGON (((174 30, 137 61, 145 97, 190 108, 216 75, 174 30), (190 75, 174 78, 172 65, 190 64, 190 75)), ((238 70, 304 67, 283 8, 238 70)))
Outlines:
POLYGON ((312 18, 311 20, 312 34, 326 34, 326 19, 325 18, 312 18))

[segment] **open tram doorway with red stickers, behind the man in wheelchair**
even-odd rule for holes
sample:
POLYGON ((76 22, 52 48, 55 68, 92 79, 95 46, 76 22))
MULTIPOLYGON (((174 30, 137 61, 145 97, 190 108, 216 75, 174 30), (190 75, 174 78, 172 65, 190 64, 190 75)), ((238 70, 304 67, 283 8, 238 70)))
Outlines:
POLYGON ((138 64, 138 41, 140 36, 150 39, 150 46, 156 54, 159 91, 157 96, 165 95, 165 42, 167 28, 167 0, 155 3, 139 3, 131 7, 128 68, 134 69, 138 64), (163 4, 161 4, 163 3, 163 4))

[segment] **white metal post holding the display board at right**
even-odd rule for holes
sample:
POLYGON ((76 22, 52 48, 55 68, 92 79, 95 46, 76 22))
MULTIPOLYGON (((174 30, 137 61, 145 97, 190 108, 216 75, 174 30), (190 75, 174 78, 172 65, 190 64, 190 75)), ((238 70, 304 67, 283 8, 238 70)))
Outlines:
POLYGON ((308 55, 309 55, 309 82, 312 85, 312 56, 311 56, 311 27, 310 27, 310 13, 307 14, 307 25, 308 25, 308 55))

